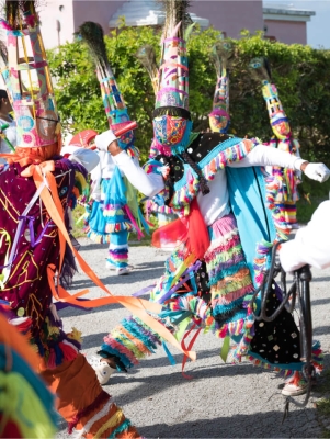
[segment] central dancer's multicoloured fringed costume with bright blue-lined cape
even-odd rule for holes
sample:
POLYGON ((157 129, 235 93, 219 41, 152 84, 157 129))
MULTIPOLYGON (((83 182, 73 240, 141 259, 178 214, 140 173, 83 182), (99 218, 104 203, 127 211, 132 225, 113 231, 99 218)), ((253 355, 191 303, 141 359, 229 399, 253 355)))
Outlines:
MULTIPOLYGON (((229 199, 224 204, 223 214, 207 227, 209 245, 203 257, 192 256, 189 250, 190 238, 185 238, 166 262, 166 272, 150 291, 150 300, 162 304, 159 317, 172 327, 178 337, 182 337, 189 324, 194 323, 224 339, 223 358, 226 359, 231 345, 230 358, 234 361, 239 362, 247 357, 255 364, 291 375, 303 368, 299 360, 299 331, 292 315, 284 311, 274 325, 261 322, 268 340, 263 347, 260 346, 260 335, 254 327, 250 305, 252 293, 268 266, 271 243, 276 235, 277 238, 283 237, 287 232, 281 211, 274 204, 281 181, 269 179, 266 191, 259 168, 230 167, 234 162, 244 160, 258 145, 217 133, 206 136, 204 142, 203 135, 195 137, 187 150, 191 150, 191 156, 201 156, 197 161, 209 182, 210 194, 219 191, 219 184, 228 184, 229 199), (218 180, 225 178, 224 173, 226 179, 218 180), (284 339, 278 340, 275 336, 276 325, 293 336, 285 342, 284 339), (286 349, 278 353, 277 348, 282 342, 286 349)), ((193 209, 196 198, 203 205, 200 178, 180 159, 180 155, 168 157, 168 160, 174 180, 172 187, 168 188, 170 204, 184 218, 186 212, 193 209)), ((145 169, 147 172, 157 172, 157 168, 163 164, 164 156, 159 156, 148 162, 145 169)), ((180 219, 175 226, 180 235, 180 219)), ((201 233, 200 228, 197 230, 201 233)), ((169 241, 169 236, 166 236, 164 244, 169 241)), ((280 300, 281 292, 274 295, 272 305, 277 306, 280 300)), ((99 353, 104 358, 113 358, 117 369, 126 370, 140 358, 151 354, 161 341, 157 334, 130 317, 104 338, 99 353)), ((314 354, 315 363, 320 369, 321 351, 318 345, 314 354)))

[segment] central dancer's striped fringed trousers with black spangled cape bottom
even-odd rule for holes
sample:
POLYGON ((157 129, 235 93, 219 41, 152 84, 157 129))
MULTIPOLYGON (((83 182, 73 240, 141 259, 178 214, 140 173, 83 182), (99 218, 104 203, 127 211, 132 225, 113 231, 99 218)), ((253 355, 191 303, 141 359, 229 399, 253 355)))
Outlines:
MULTIPOLYGON (((248 357, 254 364, 275 368, 284 374, 300 370, 299 331, 292 314, 284 311, 271 324, 254 324, 251 308, 254 288, 234 215, 217 219, 208 233, 210 246, 201 266, 191 267, 185 274, 189 280, 179 282, 179 289, 172 288, 173 294, 169 297, 171 280, 185 258, 184 248, 180 248, 167 260, 166 274, 151 292, 151 300, 164 304, 167 311, 162 315, 174 325, 190 315, 216 337, 230 337, 235 362, 248 357)), ((281 291, 277 291, 277 295, 270 297, 269 306, 275 309, 280 302, 281 291)), ((319 346, 315 346, 312 353, 315 365, 320 369, 319 346)))

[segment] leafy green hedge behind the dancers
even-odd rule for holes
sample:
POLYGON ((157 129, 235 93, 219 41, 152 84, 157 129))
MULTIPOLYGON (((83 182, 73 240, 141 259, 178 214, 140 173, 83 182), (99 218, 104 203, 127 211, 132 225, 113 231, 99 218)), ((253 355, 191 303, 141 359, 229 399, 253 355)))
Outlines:
MULTIPOLYGON (((209 49, 220 37, 214 29, 196 29, 189 42, 190 110, 196 131, 208 127, 212 109, 215 70, 209 61, 209 49)), ((144 44, 159 47, 160 31, 152 27, 122 27, 105 36, 110 63, 128 113, 138 122, 137 146, 145 155, 152 137, 151 114, 155 95, 150 79, 135 53, 144 44)), ((251 58, 266 56, 272 67, 284 110, 294 135, 300 140, 301 154, 312 160, 330 162, 330 53, 298 44, 285 45, 263 40, 262 34, 232 40, 235 56, 230 69, 231 131, 238 136, 253 136, 268 140, 270 128, 268 111, 261 94, 261 85, 250 75, 251 58)), ((56 98, 69 132, 86 128, 106 130, 100 88, 93 65, 83 43, 76 41, 49 52, 49 65, 56 79, 56 98)))

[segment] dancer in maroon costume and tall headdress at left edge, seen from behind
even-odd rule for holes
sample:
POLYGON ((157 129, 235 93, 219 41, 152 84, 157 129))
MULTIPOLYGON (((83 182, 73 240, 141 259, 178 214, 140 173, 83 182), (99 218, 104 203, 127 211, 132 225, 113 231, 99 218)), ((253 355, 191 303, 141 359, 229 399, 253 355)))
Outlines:
MULTIPOLYGON (((136 429, 102 390, 93 369, 79 352, 80 333, 75 328, 71 333, 64 331, 53 303, 53 296, 57 306, 77 300, 59 282, 67 247, 82 261, 64 221, 72 194, 78 194, 78 187, 98 164, 98 156, 86 149, 82 156, 89 155, 87 160, 78 155, 77 160, 59 155, 60 123, 34 1, 5 1, 5 14, 7 21, 1 19, 0 23, 7 31, 8 66, 1 72, 7 75, 5 86, 13 102, 18 143, 13 154, 1 155, 8 166, 0 170, 0 205, 1 212, 5 211, 0 215, 0 300, 8 304, 8 319, 14 330, 21 331, 37 353, 37 372, 56 394, 57 409, 68 421, 69 431, 76 428, 80 437, 89 438, 136 438, 136 429), (33 83, 32 74, 36 78, 33 83), (79 184, 75 188, 76 176, 79 184)), ((1 326, 2 329, 5 327, 1 326)), ((8 371, 20 371, 22 367, 23 360, 13 354, 8 371)), ((11 417, 22 420, 23 414, 29 413, 22 436, 16 429, 11 437, 52 437, 55 419, 52 398, 39 379, 31 373, 26 385, 20 376, 14 381, 5 376, 2 384, 1 394, 11 390, 5 408, 18 407, 11 417), (31 394, 33 387, 44 401, 44 409, 31 394)), ((8 419, 1 408, 2 436, 8 419)))

